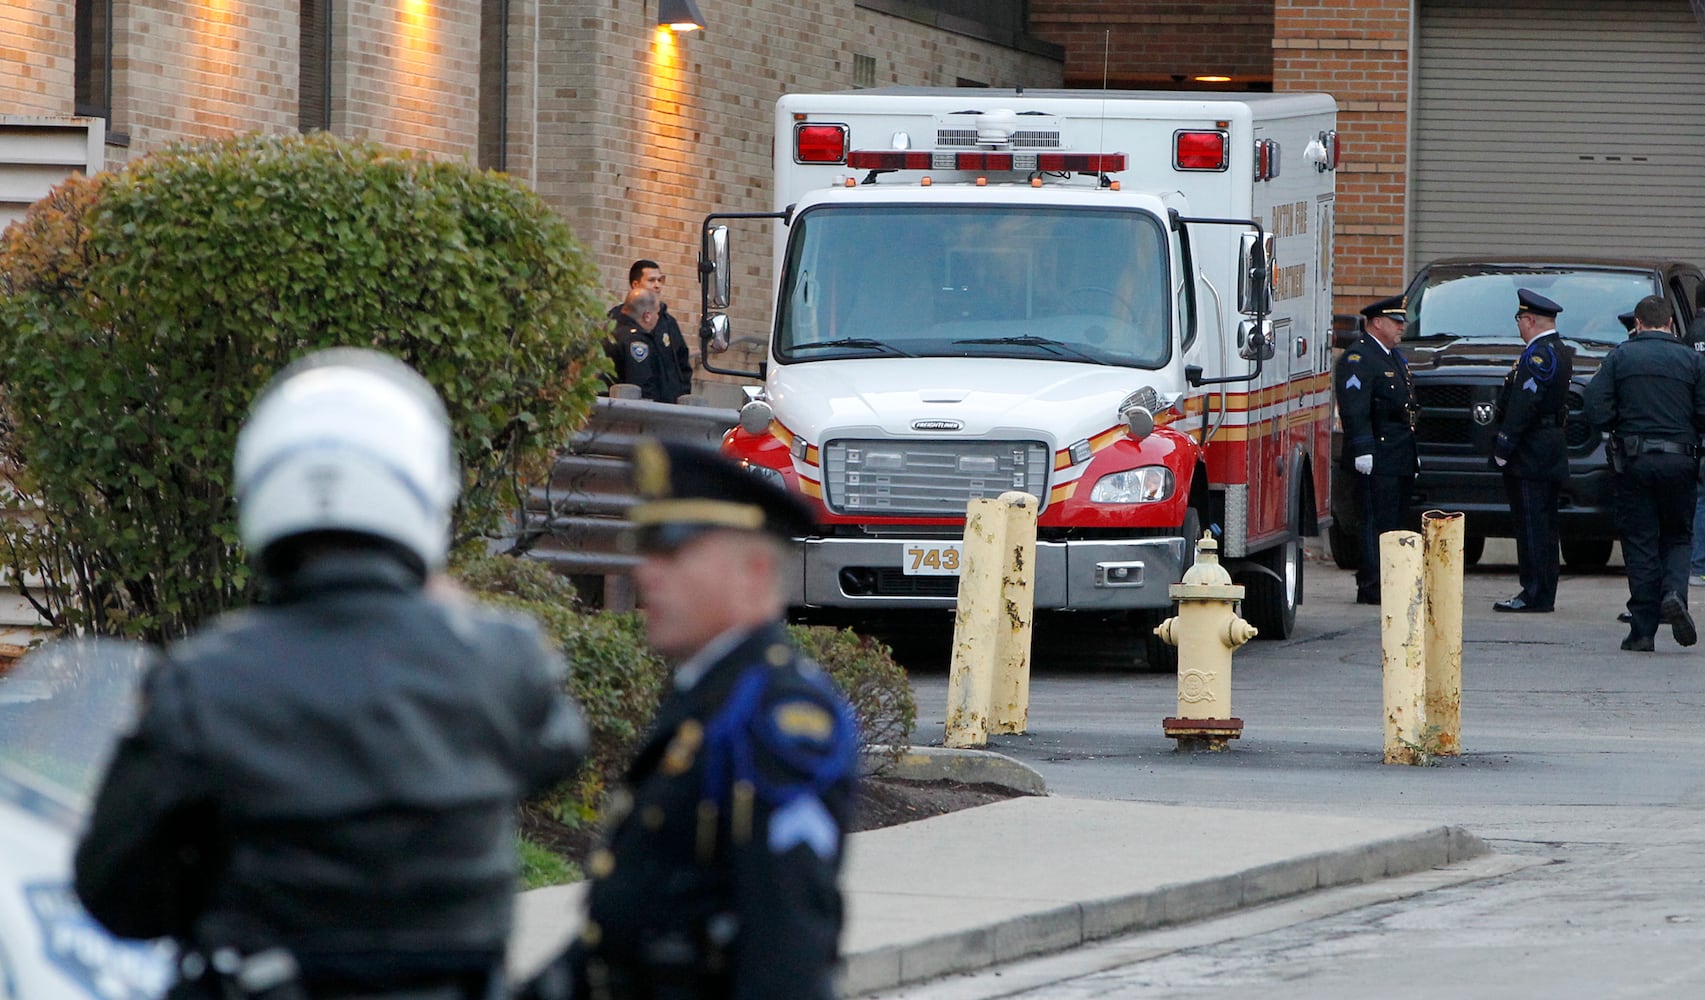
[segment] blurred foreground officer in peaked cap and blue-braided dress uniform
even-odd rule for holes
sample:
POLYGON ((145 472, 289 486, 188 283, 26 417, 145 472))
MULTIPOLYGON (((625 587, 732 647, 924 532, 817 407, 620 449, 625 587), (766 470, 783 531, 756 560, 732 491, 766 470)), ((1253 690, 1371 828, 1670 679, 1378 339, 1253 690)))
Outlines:
POLYGON ((588 860, 580 939, 523 995, 827 1000, 858 733, 783 627, 810 509, 687 445, 641 443, 634 480, 634 579, 675 683, 588 860))

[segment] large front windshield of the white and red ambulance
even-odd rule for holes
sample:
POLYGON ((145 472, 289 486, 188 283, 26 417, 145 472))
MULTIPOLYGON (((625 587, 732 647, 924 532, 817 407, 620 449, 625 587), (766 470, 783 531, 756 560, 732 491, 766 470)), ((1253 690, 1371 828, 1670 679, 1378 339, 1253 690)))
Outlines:
POLYGON ((776 356, 1159 368, 1166 264, 1159 220, 1142 211, 813 208, 789 235, 776 356))

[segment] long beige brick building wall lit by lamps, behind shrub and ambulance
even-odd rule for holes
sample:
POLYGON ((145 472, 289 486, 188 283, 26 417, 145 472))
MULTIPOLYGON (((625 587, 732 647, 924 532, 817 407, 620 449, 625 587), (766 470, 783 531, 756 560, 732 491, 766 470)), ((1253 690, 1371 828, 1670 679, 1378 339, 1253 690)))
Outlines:
MULTIPOLYGON (((614 303, 627 262, 655 257, 672 312, 699 319, 696 252, 709 211, 771 206, 771 116, 796 90, 876 85, 1057 87, 1057 60, 864 10, 854 0, 706 5, 708 31, 651 22, 655 2, 512 0, 508 172, 561 210, 614 303)), ((0 7, 0 107, 73 107, 70 0, 0 7), (10 46, 10 48, 9 48, 10 46)), ((332 131, 476 157, 479 0, 336 0, 332 131)), ((113 131, 128 148, 242 131, 290 133, 298 114, 295 0, 114 0, 113 131)), ((769 320, 769 233, 737 233, 737 330, 769 320)))

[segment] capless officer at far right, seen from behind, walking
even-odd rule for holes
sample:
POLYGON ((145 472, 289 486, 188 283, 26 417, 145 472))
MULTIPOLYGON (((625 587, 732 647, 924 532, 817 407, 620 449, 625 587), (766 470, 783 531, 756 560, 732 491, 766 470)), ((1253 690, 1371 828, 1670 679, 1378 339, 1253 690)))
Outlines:
POLYGON ((1633 336, 1618 344, 1587 383, 1587 419, 1611 434, 1616 530, 1628 567, 1628 637, 1621 647, 1652 651, 1657 625, 1693 646, 1688 562, 1698 440, 1705 433, 1705 356, 1673 334, 1661 295, 1633 307, 1633 336))

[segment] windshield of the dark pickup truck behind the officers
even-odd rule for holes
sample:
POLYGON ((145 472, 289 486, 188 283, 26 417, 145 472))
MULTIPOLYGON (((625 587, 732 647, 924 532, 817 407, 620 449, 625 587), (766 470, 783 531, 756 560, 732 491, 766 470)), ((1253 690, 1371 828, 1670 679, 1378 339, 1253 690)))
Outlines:
POLYGON ((1628 337, 1616 319, 1662 288, 1650 271, 1603 267, 1434 267, 1410 293, 1403 339, 1475 337, 1519 341, 1516 290, 1529 288, 1563 307, 1557 332, 1577 341, 1616 344, 1628 337))

